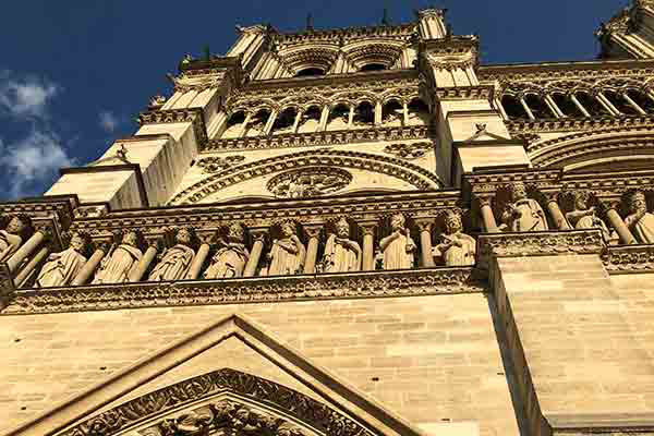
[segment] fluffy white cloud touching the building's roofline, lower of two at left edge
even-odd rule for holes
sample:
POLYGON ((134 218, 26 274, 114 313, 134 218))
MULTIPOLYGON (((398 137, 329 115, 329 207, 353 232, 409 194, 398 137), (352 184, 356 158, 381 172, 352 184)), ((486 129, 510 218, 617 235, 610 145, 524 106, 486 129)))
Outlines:
POLYGON ((60 168, 74 164, 57 135, 38 130, 0 152, 0 168, 10 183, 12 197, 40 194, 34 192, 35 185, 51 180, 60 168))

